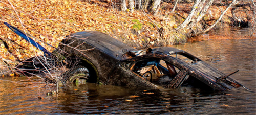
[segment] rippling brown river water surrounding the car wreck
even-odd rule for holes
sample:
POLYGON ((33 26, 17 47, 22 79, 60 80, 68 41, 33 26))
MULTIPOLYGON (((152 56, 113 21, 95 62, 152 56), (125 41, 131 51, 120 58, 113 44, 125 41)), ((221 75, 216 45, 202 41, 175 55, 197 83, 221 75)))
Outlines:
MULTIPOLYGON (((201 41, 174 47, 225 74, 239 70, 231 77, 256 91, 256 39, 201 37, 201 41)), ((0 114, 256 114, 256 93, 243 88, 226 92, 188 87, 143 90, 88 83, 46 96, 49 89, 39 79, 0 79, 0 114)))

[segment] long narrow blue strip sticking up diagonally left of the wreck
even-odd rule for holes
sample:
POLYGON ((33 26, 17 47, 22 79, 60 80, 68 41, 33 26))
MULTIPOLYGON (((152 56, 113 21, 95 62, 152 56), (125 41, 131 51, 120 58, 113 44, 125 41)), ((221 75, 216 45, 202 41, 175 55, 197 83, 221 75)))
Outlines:
POLYGON ((30 37, 28 37, 25 33, 23 33, 21 30, 19 30, 18 28, 11 26, 10 24, 8 24, 7 22, 4 22, 4 24, 9 27, 13 32, 15 32, 16 34, 18 34, 20 37, 24 38, 25 40, 27 40, 29 43, 31 43, 32 45, 34 45, 36 48, 38 48, 39 50, 43 51, 44 54, 47 54, 49 56, 51 56, 51 52, 49 52, 48 50, 46 50, 44 47, 42 47, 40 44, 38 44, 37 42, 35 42, 33 39, 31 39, 30 37))

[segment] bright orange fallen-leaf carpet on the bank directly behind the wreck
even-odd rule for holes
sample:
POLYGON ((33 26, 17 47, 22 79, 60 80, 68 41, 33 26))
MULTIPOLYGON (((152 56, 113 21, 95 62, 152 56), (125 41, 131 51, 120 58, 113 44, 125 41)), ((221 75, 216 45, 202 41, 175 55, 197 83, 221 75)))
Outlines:
MULTIPOLYGON (((175 21, 164 22, 158 16, 147 14, 153 19, 154 24, 141 11, 121 12, 113 9, 109 3, 91 1, 82 2, 75 0, 36 0, 36 1, 6 1, 0 2, 1 19, 12 26, 26 31, 35 38, 47 42, 54 47, 66 35, 79 31, 100 31, 111 35, 123 42, 130 43, 133 47, 141 48, 148 41, 151 44, 158 45, 152 39, 160 42, 160 36, 157 27, 163 27, 167 30, 165 36, 161 39, 167 39, 166 45, 173 44, 176 38, 183 38, 172 30, 175 21), (14 10, 15 9, 15 10, 14 10), (139 36, 139 37, 138 37, 139 36)), ((1 45, 1 58, 8 60, 21 60, 34 55, 42 54, 31 44, 19 37, 8 29, 7 26, 0 23, 0 38, 5 39, 11 53, 4 45, 1 45), (12 39, 17 44, 14 44, 12 39)), ((52 51, 53 48, 38 40, 43 47, 52 51)), ((163 42, 162 42, 163 43, 163 42)))

